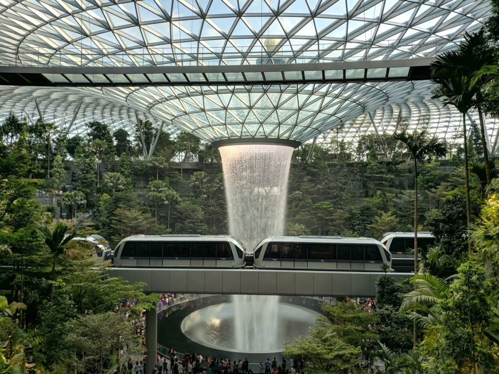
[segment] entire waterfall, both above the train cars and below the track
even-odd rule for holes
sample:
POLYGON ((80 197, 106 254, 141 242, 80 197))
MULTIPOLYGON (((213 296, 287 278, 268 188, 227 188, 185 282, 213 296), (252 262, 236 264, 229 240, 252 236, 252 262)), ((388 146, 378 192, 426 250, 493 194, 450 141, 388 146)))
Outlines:
MULTIPOLYGON (((241 144, 219 148, 224 168, 229 233, 248 250, 285 230, 287 180, 293 148, 241 144)), ((234 295, 236 346, 245 352, 282 348, 278 297, 234 295)))

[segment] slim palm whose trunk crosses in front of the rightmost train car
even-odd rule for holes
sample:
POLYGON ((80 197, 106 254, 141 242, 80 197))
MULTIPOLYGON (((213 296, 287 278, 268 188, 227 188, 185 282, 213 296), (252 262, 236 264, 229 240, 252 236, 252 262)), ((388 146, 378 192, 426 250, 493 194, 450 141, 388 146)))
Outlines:
POLYGON ((406 131, 395 133, 391 139, 399 141, 406 148, 406 154, 414 160, 414 274, 418 273, 418 163, 428 156, 444 157, 445 146, 436 139, 427 139, 426 133, 409 134, 406 131))

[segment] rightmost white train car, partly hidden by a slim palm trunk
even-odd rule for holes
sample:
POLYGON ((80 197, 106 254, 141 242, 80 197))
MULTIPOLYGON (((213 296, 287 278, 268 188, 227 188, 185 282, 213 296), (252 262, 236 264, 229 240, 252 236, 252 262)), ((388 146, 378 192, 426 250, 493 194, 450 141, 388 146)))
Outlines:
MULTIPOLYGON (((386 232, 380 241, 392 254, 392 266, 397 271, 414 271, 414 232, 386 232)), ((435 244, 429 231, 418 232, 418 248, 427 251, 435 244)))

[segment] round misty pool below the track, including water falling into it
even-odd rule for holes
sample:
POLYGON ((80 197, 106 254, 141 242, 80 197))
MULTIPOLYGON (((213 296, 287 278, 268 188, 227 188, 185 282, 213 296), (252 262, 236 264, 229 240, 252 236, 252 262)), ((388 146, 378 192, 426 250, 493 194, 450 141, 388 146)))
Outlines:
POLYGON ((319 313, 276 296, 234 296, 232 303, 189 314, 180 325, 190 340, 228 352, 282 352, 283 343, 306 335, 319 313))

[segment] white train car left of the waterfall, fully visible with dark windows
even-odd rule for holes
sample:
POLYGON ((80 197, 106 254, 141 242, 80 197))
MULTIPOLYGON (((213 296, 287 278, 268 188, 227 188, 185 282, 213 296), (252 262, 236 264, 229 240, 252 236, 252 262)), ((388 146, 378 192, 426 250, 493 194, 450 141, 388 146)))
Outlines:
POLYGON ((243 267, 245 247, 227 235, 132 235, 113 252, 117 267, 243 267))

